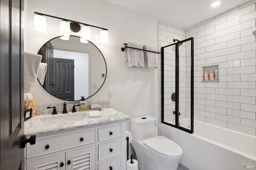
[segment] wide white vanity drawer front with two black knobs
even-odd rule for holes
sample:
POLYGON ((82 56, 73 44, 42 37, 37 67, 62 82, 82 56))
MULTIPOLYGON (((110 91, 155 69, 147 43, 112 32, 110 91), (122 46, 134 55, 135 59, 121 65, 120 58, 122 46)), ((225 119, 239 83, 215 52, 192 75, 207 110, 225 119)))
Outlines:
POLYGON ((27 145, 27 158, 33 158, 44 154, 66 150, 85 144, 96 142, 96 130, 89 130, 53 138, 36 140, 36 144, 27 145))

